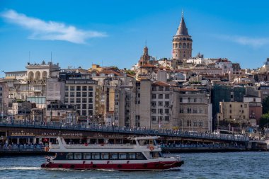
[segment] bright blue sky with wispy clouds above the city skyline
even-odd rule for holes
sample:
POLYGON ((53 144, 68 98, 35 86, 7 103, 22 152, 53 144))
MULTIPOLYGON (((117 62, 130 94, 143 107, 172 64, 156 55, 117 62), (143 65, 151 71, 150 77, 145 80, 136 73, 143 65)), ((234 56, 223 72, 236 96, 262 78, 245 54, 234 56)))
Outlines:
POLYGON ((269 57, 268 8, 262 0, 1 0, 0 77, 51 58, 62 69, 130 69, 146 41, 151 56, 170 58, 182 10, 193 56, 255 69, 269 57))

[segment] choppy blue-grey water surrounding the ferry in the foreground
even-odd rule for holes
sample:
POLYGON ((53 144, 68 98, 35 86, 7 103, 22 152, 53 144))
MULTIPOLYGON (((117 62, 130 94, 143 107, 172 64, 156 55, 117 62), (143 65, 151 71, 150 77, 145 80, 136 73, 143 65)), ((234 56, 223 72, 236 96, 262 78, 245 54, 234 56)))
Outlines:
MULTIPOLYGON (((171 154, 177 155, 177 154, 171 154)), ((185 164, 170 171, 44 170, 43 156, 0 157, 0 178, 269 178, 269 152, 180 154, 185 164)))

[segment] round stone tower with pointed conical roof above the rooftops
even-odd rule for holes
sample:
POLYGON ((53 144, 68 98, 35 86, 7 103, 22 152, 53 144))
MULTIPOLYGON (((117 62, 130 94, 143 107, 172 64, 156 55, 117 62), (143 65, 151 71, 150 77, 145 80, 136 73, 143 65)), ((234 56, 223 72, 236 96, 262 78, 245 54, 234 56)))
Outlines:
POLYGON ((193 40, 188 34, 188 28, 186 28, 183 11, 181 16, 181 23, 178 26, 176 35, 173 36, 173 59, 177 62, 182 62, 183 59, 189 59, 192 57, 193 40))

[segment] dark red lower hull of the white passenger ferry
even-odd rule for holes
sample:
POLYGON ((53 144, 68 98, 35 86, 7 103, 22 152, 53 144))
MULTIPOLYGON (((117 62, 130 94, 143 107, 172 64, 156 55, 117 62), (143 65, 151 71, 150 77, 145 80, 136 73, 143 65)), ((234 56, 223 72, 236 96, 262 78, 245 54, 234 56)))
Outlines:
POLYGON ((75 170, 108 169, 117 171, 147 171, 166 170, 180 167, 184 162, 154 162, 154 163, 125 163, 125 164, 71 164, 71 163, 44 163, 41 168, 65 168, 75 170))

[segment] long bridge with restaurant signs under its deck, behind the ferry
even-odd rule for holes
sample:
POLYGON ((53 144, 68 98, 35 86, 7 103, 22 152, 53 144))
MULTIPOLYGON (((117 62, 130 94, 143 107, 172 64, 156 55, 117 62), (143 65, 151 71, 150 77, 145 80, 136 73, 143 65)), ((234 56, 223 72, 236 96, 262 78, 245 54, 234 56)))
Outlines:
POLYGON ((248 137, 231 134, 188 132, 174 129, 146 129, 142 127, 117 127, 105 125, 64 124, 60 122, 0 122, 1 138, 6 137, 112 137, 158 135, 164 139, 181 139, 200 142, 240 143, 249 142, 248 137))

